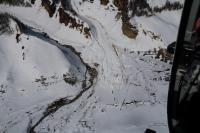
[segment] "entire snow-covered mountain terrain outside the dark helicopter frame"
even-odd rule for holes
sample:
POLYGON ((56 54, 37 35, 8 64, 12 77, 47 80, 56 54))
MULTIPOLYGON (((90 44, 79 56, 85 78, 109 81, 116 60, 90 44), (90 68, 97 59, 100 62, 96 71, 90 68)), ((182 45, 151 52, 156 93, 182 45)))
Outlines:
POLYGON ((25 2, 0 4, 0 132, 168 132, 171 65, 155 57, 175 41, 181 6, 25 2))

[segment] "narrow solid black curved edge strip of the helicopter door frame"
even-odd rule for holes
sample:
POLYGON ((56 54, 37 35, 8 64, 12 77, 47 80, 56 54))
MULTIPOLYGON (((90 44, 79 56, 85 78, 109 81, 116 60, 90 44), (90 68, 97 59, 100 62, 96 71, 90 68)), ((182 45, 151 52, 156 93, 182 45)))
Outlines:
POLYGON ((193 1, 194 0, 185 0, 181 22, 179 26, 177 42, 176 42, 176 50, 175 50, 172 71, 171 71, 171 79, 170 79, 170 84, 169 84, 168 102, 167 102, 168 127, 169 127, 170 133, 176 133, 176 130, 173 127, 172 119, 175 118, 177 115, 176 108, 178 105, 180 93, 174 91, 174 87, 175 87, 175 82, 176 82, 176 74, 177 74, 178 66, 180 63, 184 62, 182 58, 183 51, 184 51, 183 44, 184 44, 186 29, 188 25, 188 19, 189 19, 193 1))

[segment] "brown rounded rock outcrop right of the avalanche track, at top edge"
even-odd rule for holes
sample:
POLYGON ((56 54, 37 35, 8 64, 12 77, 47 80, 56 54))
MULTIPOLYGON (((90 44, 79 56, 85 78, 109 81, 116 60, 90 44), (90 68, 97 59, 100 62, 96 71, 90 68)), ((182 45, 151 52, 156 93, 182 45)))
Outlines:
POLYGON ((114 0, 113 4, 118 8, 122 19, 122 32, 124 35, 131 39, 135 39, 138 35, 137 26, 130 23, 128 16, 128 1, 127 0, 114 0))

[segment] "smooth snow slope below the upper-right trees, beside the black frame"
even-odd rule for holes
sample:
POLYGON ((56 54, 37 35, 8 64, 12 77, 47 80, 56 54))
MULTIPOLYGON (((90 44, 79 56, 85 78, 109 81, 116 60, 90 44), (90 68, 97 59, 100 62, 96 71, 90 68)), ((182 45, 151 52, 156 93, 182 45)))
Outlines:
POLYGON ((164 44, 167 46, 176 40, 180 16, 181 10, 165 11, 152 17, 137 17, 136 21, 142 24, 145 29, 160 34, 164 44))

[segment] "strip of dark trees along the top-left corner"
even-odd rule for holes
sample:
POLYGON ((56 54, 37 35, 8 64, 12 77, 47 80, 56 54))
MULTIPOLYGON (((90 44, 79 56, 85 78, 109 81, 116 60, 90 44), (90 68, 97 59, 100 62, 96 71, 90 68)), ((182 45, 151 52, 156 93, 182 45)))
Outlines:
POLYGON ((0 0, 0 4, 31 7, 31 4, 29 2, 24 2, 24 0, 0 0))

